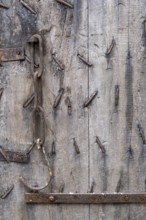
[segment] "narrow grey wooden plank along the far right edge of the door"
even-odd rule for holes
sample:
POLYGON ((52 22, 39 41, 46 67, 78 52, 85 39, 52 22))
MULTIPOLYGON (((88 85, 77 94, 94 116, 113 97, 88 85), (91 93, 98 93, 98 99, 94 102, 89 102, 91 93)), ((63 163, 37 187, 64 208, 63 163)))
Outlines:
MULTIPOLYGON (((129 0, 129 51, 131 53, 131 90, 133 99, 131 149, 129 161, 129 191, 145 192, 146 146, 139 134, 138 124, 146 132, 145 114, 145 7, 146 1, 129 0)), ((145 219, 145 206, 130 206, 129 215, 134 219, 145 219)))

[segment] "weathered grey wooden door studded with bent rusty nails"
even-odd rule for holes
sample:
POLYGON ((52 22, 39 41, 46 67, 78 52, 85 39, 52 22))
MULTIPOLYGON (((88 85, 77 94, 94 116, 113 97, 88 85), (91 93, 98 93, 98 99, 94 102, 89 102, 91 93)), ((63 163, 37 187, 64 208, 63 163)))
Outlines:
POLYGON ((0 219, 145 220, 144 204, 25 204, 19 177, 43 185, 49 160, 44 193, 145 192, 146 0, 1 3, 0 219), (24 103, 34 93, 34 34, 44 48, 45 157, 34 147, 28 163, 8 163, 4 152, 26 156, 33 141, 34 103, 24 103))

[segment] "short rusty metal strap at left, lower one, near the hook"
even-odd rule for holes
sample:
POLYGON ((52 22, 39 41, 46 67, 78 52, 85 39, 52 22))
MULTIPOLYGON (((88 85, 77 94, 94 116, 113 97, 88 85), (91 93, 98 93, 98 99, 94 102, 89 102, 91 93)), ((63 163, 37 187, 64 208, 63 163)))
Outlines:
POLYGON ((22 152, 3 149, 3 154, 0 153, 0 161, 28 163, 29 154, 27 154, 25 151, 22 152), (5 155, 5 157, 3 155, 5 155))

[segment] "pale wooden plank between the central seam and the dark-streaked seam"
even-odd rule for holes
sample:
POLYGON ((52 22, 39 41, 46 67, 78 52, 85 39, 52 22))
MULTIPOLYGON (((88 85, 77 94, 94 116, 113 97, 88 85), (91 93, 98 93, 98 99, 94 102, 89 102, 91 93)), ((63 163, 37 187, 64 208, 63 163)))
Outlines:
MULTIPOLYGON (((90 185, 94 192, 128 191, 127 121, 125 91, 128 50, 128 1, 91 1, 89 4, 89 95, 98 97, 88 108, 90 144, 90 185), (98 13, 97 13, 98 12, 98 13), (112 41, 115 45, 110 50, 112 41), (109 54, 106 55, 106 52, 109 54), (119 104, 115 105, 115 86, 119 85, 119 104), (106 153, 96 143, 99 137, 106 153)), ((126 84, 126 86, 128 86, 126 84)), ((91 219, 127 219, 129 206, 91 206, 91 219)))

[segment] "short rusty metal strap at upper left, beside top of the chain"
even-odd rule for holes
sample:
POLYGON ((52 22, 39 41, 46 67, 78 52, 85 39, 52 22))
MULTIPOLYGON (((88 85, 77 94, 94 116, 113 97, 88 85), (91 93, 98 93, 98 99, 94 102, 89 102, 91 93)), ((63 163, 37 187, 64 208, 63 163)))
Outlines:
POLYGON ((25 60, 24 48, 0 48, 0 61, 8 62, 8 61, 17 61, 17 60, 25 60))

